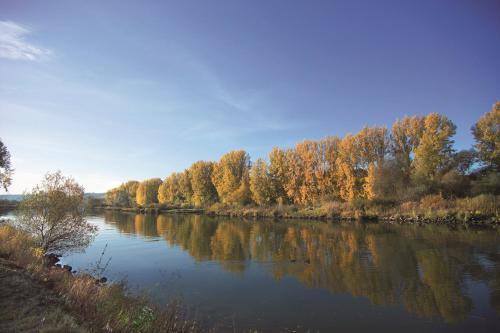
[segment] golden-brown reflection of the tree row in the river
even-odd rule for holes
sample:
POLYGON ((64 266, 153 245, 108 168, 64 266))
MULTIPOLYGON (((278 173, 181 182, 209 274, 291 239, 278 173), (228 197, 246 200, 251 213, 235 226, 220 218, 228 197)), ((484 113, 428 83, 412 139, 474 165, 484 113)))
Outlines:
POLYGON ((307 287, 363 296, 373 304, 401 303, 447 322, 462 321, 472 309, 466 279, 485 281, 500 314, 496 230, 111 211, 105 221, 123 233, 162 237, 195 260, 216 261, 230 272, 245 271, 250 260, 271 264, 277 280, 291 276, 307 287))

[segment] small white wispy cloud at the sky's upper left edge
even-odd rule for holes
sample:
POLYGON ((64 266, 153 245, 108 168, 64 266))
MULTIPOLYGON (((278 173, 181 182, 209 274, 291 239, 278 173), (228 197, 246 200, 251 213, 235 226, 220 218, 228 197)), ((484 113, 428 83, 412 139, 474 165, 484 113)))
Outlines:
POLYGON ((37 61, 47 58, 51 51, 26 41, 31 31, 11 21, 0 21, 0 58, 37 61))

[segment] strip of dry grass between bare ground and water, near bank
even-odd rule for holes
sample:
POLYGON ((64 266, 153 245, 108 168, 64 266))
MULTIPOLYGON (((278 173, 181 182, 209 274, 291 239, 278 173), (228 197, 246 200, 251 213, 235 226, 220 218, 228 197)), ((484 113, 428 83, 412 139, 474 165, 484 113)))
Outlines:
POLYGON ((9 225, 0 226, 0 256, 59 293, 71 313, 94 332, 195 332, 196 323, 184 319, 177 303, 159 308, 127 294, 123 284, 102 285, 88 274, 72 275, 49 267, 30 237, 9 225))

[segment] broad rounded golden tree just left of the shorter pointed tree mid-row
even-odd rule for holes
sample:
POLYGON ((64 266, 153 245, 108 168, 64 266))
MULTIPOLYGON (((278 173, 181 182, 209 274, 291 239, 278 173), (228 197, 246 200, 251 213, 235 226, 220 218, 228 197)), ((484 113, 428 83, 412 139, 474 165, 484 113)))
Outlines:
POLYGON ((249 199, 250 157, 244 150, 230 151, 214 164, 212 182, 223 203, 249 199))

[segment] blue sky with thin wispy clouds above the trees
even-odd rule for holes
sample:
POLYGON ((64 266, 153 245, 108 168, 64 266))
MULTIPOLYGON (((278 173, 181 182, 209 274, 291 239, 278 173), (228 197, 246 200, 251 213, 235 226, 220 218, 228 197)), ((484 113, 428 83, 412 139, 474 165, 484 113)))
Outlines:
POLYGON ((455 147, 500 100, 500 0, 0 0, 9 193, 87 192, 245 149, 439 112, 455 147))

